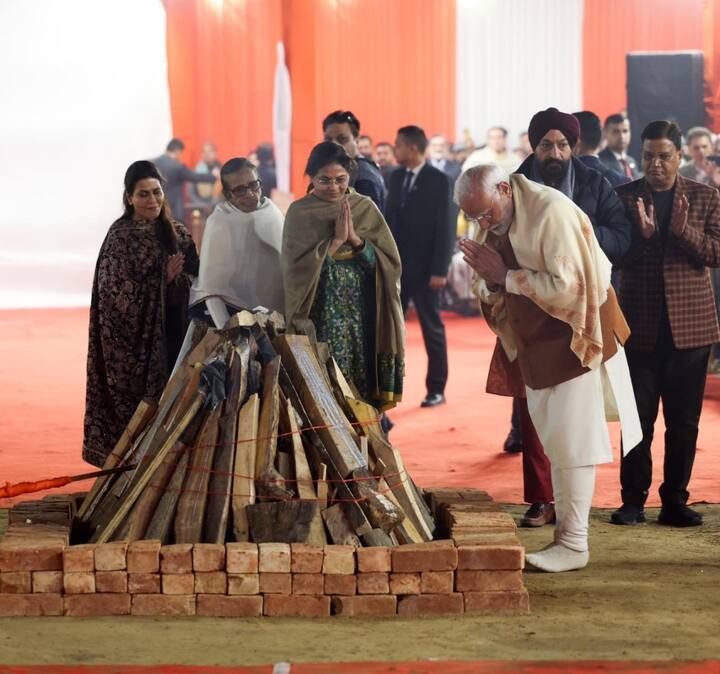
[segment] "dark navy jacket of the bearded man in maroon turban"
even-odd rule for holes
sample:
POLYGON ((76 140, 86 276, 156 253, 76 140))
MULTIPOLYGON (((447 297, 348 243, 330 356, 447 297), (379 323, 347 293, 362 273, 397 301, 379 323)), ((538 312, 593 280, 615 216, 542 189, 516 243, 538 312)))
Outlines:
MULTIPOLYGON (((535 155, 530 155, 517 173, 532 180, 531 166, 535 155)), ((590 218, 600 248, 613 264, 617 264, 630 248, 632 226, 610 183, 597 171, 588 168, 576 157, 572 158, 575 171, 573 201, 590 218)))

